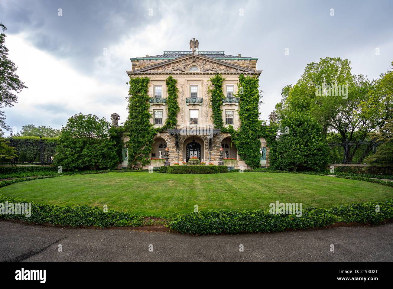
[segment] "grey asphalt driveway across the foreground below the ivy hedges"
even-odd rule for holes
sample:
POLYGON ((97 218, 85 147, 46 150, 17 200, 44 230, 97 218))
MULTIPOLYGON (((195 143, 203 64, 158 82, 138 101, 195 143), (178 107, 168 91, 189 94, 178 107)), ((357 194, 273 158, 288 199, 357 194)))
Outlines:
POLYGON ((0 232, 0 261, 393 261, 393 223, 196 237, 0 221, 0 232))

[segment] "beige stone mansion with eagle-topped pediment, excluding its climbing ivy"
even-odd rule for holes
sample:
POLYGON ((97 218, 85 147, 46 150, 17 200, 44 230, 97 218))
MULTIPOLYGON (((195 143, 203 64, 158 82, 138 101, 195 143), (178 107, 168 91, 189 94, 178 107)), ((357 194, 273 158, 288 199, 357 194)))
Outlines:
MULTIPOLYGON (((194 39, 195 40, 195 39, 194 39)), ((191 40, 192 41, 192 40, 191 40)), ((196 40, 196 47, 198 43, 196 40)), ((191 49, 191 42, 190 42, 191 49)), ((152 144, 151 159, 162 159, 165 149, 169 149, 169 162, 188 162, 197 157, 206 165, 218 164, 220 148, 223 158, 235 159, 232 168, 248 168, 239 158, 237 149, 231 144, 231 135, 213 128, 212 109, 209 99, 209 79, 216 74, 224 78, 222 84, 224 99, 222 101, 222 120, 224 127, 232 125, 235 130, 240 126, 239 98, 237 95, 239 75, 259 77, 258 58, 244 57, 241 54, 228 55, 224 51, 164 51, 161 55, 130 58, 132 67, 127 71, 130 78, 148 77, 149 104, 151 123, 154 127, 165 124, 167 118, 167 87, 165 81, 172 75, 177 81, 178 105, 177 125, 157 133, 152 144)), ((118 125, 119 115, 111 116, 112 125, 118 125)), ((125 137, 124 142, 128 139, 125 137)), ((266 167, 266 141, 261 138, 261 166, 266 167)), ((120 167, 127 166, 127 148, 124 148, 123 162, 120 167)), ((151 166, 154 164, 151 163, 151 166)), ((228 165, 229 166, 229 165, 228 165)), ((144 168, 149 168, 145 166, 144 168)))

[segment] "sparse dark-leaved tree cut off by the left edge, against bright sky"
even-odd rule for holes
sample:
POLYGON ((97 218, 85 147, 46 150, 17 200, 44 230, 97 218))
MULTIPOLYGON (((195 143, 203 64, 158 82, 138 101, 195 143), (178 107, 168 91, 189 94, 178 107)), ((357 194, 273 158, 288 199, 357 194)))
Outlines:
MULTIPOLYGON (((0 22, 0 29, 4 32, 7 28, 0 22)), ((8 49, 4 45, 5 33, 0 33, 0 109, 3 107, 13 107, 18 101, 17 95, 23 88, 27 88, 18 75, 15 73, 17 67, 15 63, 8 59, 8 49)), ((0 110, 0 127, 9 130, 6 123, 6 115, 0 110)))

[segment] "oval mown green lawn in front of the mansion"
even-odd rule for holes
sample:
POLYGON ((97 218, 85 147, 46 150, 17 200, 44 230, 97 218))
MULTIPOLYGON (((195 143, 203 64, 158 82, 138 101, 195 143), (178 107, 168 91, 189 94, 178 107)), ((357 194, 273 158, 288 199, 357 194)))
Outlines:
POLYGON ((108 205, 157 217, 193 212, 194 205, 199 210, 254 210, 279 201, 329 208, 393 198, 393 188, 380 184, 287 173, 72 175, 20 182, 0 188, 0 193, 40 203, 108 205))

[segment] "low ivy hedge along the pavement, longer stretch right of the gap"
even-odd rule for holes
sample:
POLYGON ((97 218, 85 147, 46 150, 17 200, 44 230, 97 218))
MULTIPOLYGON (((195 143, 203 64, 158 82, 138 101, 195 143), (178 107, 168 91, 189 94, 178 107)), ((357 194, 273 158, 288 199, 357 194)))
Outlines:
POLYGON ((393 200, 380 203, 354 203, 332 209, 304 208, 301 217, 295 214, 270 214, 269 210, 228 211, 210 210, 178 215, 169 226, 181 233, 239 234, 279 232, 285 229, 324 227, 336 222, 378 224, 393 219, 393 200), (380 212, 375 212, 375 206, 380 212))

